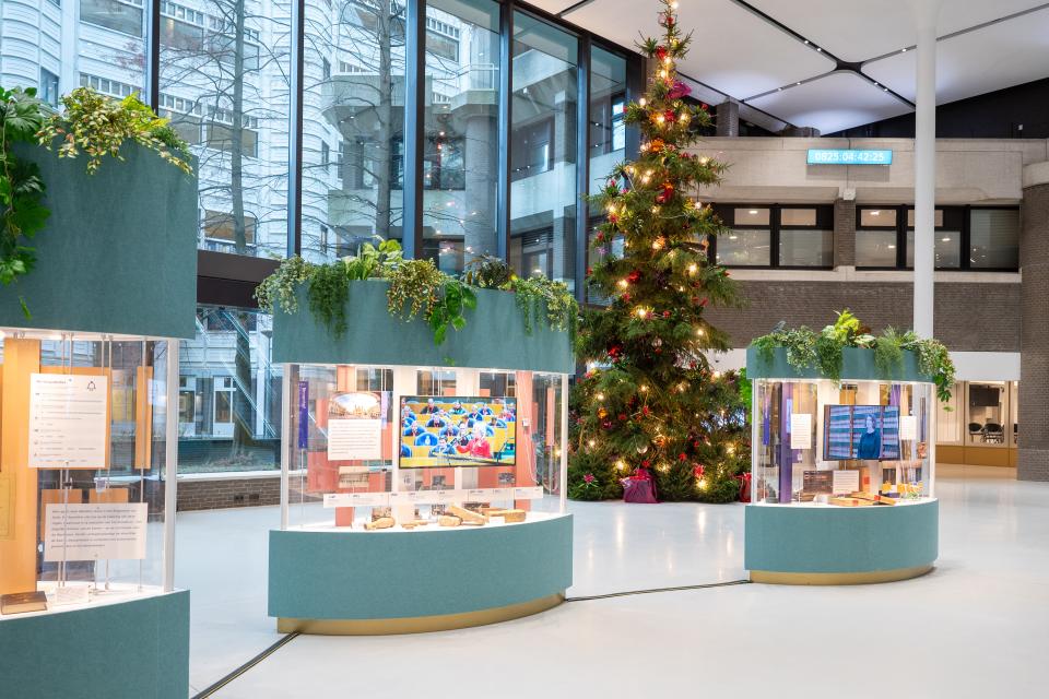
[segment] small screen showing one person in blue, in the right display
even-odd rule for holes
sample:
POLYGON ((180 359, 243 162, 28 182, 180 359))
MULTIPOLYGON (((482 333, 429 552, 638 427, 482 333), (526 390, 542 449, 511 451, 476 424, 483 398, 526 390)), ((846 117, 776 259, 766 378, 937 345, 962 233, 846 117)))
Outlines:
POLYGON ((825 461, 899 460, 899 406, 827 405, 825 461))

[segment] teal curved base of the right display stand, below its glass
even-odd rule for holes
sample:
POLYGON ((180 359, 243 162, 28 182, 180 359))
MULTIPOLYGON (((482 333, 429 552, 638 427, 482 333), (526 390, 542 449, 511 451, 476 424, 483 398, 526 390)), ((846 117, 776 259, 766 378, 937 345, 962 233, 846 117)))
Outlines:
POLYGON ((767 572, 874 572, 929 566, 940 502, 895 507, 747 505, 744 567, 767 572))

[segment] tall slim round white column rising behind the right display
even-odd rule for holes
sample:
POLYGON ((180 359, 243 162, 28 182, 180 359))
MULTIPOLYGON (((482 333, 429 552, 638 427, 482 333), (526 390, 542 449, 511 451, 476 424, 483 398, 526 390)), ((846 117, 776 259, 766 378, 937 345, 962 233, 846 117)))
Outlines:
POLYGON ((915 10, 918 70, 915 115, 915 319, 914 329, 932 337, 936 206, 936 17, 942 0, 922 0, 915 10))

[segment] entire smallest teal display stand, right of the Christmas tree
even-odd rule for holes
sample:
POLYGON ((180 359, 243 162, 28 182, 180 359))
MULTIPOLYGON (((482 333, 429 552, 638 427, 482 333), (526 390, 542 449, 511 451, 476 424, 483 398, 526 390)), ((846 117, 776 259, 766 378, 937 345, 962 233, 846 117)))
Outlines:
POLYGON ((857 584, 929 572, 939 549, 932 377, 904 352, 881 377, 872 350, 844 348, 840 381, 786 351, 747 350, 752 502, 744 566, 754 582, 857 584))

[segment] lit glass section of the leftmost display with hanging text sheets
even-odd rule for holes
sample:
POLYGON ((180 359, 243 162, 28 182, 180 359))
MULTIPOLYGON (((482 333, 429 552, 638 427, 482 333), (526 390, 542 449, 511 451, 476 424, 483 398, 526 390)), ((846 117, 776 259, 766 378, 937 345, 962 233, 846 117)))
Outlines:
POLYGON ((170 591, 177 342, 0 337, 0 624, 170 591))

